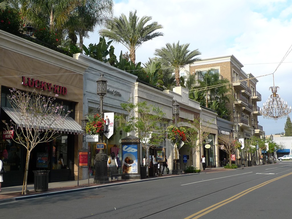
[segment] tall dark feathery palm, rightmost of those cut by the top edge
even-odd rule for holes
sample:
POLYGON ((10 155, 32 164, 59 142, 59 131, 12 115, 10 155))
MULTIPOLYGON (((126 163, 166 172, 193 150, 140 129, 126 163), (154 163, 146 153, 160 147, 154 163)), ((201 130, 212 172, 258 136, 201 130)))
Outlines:
POLYGON ((112 0, 86 0, 83 4, 77 5, 70 16, 67 26, 68 35, 79 36, 79 48, 82 50, 83 39, 88 37, 88 32, 93 32, 99 25, 105 25, 112 18, 114 3, 112 0))

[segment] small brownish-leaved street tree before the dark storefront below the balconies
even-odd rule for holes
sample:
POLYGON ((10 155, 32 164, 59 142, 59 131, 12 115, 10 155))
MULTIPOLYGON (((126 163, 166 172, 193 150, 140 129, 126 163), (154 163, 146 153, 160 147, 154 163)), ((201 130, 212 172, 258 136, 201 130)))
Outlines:
POLYGON ((221 150, 229 154, 229 165, 231 166, 231 154, 234 154, 235 150, 241 147, 241 143, 239 143, 237 140, 234 140, 232 134, 230 135, 219 134, 218 142, 219 144, 221 144, 221 150))

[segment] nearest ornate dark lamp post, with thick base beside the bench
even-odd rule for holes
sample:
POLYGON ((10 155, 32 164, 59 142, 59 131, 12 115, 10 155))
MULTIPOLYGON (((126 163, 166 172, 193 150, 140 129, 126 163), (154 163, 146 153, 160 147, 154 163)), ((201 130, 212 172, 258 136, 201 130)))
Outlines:
MULTIPOLYGON (((103 98, 107 94, 107 80, 100 75, 97 83, 97 95, 100 97, 100 117, 103 119, 103 98)), ((100 142, 103 142, 103 133, 100 135, 100 142)), ((107 175, 107 155, 103 149, 99 150, 99 153, 95 156, 95 176, 93 183, 103 184, 108 183, 109 178, 107 175)))

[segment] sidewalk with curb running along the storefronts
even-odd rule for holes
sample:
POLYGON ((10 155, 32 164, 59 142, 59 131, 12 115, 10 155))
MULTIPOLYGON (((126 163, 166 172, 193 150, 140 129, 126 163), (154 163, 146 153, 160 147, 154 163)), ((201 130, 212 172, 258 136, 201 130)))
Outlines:
POLYGON ((188 174, 182 174, 182 175, 172 175, 172 174, 163 174, 162 176, 156 176, 156 177, 149 177, 147 179, 141 179, 141 180, 123 180, 120 179, 116 180, 109 178, 109 183, 106 184, 93 184, 94 178, 89 179, 89 187, 88 187, 88 179, 86 180, 79 180, 79 186, 77 186, 77 180, 75 181, 63 181, 63 182, 55 182, 55 183, 49 183, 48 184, 48 191, 47 192, 35 192, 34 191, 34 184, 27 185, 27 192, 26 195, 22 195, 22 185, 19 186, 11 186, 11 187, 3 187, 2 191, 0 193, 0 204, 11 202, 11 201, 18 201, 18 200, 24 200, 24 199, 32 199, 37 197, 46 197, 46 196, 52 196, 57 194, 64 194, 69 192, 77 192, 82 190, 90 190, 95 188, 102 188, 102 187, 109 187, 113 185, 123 185, 128 183, 138 183, 148 180, 158 180, 161 178, 171 178, 171 177, 181 177, 181 176, 187 176, 187 175, 193 175, 193 174, 202 174, 202 173, 213 173, 213 172, 221 172, 221 171, 229 171, 232 169, 225 169, 223 167, 218 168, 208 168, 205 171, 201 171, 201 173, 188 173, 188 174))

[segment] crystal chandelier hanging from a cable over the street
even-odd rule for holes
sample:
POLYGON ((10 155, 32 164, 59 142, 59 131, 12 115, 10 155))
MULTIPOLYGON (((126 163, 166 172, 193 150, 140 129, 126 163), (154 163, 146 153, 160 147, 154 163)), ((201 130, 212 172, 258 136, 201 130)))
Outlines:
POLYGON ((291 113, 291 106, 289 107, 287 102, 281 99, 280 95, 277 94, 277 89, 279 89, 279 87, 275 86, 274 73, 273 85, 274 86, 269 88, 269 90, 272 90, 272 94, 263 104, 263 108, 260 109, 260 113, 264 116, 264 118, 277 120, 282 117, 287 117, 288 114, 291 113))

